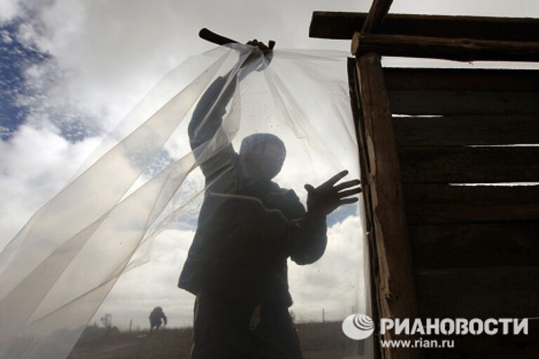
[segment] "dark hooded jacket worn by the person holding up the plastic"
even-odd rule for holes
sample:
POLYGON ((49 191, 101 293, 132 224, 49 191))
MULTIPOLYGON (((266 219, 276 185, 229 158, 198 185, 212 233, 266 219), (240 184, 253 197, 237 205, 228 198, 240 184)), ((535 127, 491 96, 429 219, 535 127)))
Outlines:
MULTIPOLYGON (((194 150, 220 128, 235 86, 235 81, 227 86, 220 77, 201 97, 189 123, 194 150)), ((256 142, 274 138, 246 137, 240 154, 256 142)), ((232 144, 200 166, 206 192, 178 287, 227 302, 290 306, 287 259, 311 264, 324 254, 325 217, 310 217, 294 191, 281 189, 270 179, 249 180, 232 144)))

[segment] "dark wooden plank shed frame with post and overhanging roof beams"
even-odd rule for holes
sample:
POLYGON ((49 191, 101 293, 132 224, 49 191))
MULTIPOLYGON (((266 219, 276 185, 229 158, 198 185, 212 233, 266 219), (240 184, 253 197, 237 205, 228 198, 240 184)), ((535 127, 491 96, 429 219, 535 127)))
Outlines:
POLYGON ((387 15, 391 3, 315 12, 310 27, 312 37, 352 40, 373 319, 530 319, 527 336, 451 337, 448 350, 378 346, 375 356, 539 358, 539 70, 380 62, 538 61, 539 20, 387 15))

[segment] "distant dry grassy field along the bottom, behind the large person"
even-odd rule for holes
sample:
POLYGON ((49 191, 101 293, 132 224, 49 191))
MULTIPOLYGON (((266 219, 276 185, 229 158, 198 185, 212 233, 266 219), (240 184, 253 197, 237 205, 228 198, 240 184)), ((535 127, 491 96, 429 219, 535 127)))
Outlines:
MULTIPOLYGON (((345 337, 340 326, 340 322, 297 324, 304 358, 353 358, 357 342, 345 337)), ((108 335, 99 331, 83 335, 68 359, 187 359, 191 335, 191 328, 108 335)))

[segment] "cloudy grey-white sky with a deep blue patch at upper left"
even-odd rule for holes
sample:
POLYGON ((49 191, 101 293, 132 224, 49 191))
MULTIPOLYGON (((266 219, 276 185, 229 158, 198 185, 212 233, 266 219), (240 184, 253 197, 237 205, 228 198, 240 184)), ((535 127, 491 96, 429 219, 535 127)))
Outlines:
MULTIPOLYGON (((213 48, 197 34, 208 27, 238 41, 277 42, 276 48, 349 50, 349 41, 309 39, 312 11, 366 12, 371 1, 186 1, 186 0, 0 0, 0 249, 29 217, 72 178, 109 131, 164 74, 189 56, 213 48)), ((392 13, 493 15, 539 18, 534 0, 395 0, 392 13)), ((404 63, 401 60, 388 62, 404 63), (401 62, 399 62, 401 61, 401 62)), ((417 63, 417 62, 416 62, 417 63)), ((447 65, 447 63, 446 63, 447 65)), ((473 65, 470 65, 473 66, 473 65)), ((361 228, 353 210, 332 219, 335 243, 361 228)), ((164 306, 172 325, 187 325, 192 297, 175 282, 192 231, 165 231, 155 248, 157 259, 122 278, 103 304, 113 323, 147 325, 147 312, 164 306), (160 273, 157 277, 148 273, 160 273), (134 285, 134 284, 137 285, 134 285), (159 294, 156 294, 159 292, 159 294), (133 297, 137 298, 133 301, 133 297), (159 303, 156 301, 159 299, 159 303), (114 321, 116 320, 116 322, 114 321)), ((319 266, 347 272, 361 260, 361 249, 335 245, 319 266), (351 256, 346 254, 353 253, 351 256)), ((357 283, 361 271, 341 284, 357 283)), ((328 287, 335 276, 292 271, 292 282, 328 287)), ((335 285, 335 287, 339 287, 335 285)), ((307 300, 309 290, 296 290, 307 300)), ((338 294, 335 294, 336 297, 338 294)), ((329 297, 328 297, 329 298, 329 297)), ((314 299, 309 303, 314 302, 314 299)), ((316 320, 320 307, 338 308, 335 299, 319 307, 296 309, 316 320)), ((293 308, 294 309, 294 308, 293 308)), ((344 317, 349 309, 337 311, 344 317)), ((352 311, 352 309, 350 309, 352 311)), ((338 313, 337 313, 338 312, 338 313)))

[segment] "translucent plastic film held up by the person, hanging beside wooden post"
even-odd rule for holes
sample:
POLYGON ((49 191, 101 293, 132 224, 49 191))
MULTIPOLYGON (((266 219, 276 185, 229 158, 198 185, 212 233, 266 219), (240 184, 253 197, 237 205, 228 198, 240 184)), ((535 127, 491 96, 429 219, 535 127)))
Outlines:
POLYGON ((164 285, 197 298, 200 353, 216 332, 241 355, 291 353, 290 309, 370 314, 345 60, 238 44, 167 74, 1 252, 0 358, 66 358, 120 277, 149 276, 160 241, 180 253, 159 262, 175 273, 164 285))

